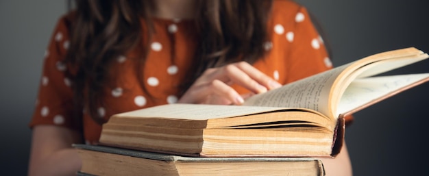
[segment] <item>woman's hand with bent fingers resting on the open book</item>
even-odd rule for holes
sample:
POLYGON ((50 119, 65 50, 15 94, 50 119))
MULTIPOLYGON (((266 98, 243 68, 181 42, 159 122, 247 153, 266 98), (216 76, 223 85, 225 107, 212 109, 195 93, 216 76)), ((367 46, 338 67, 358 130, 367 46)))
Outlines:
POLYGON ((178 103, 241 105, 249 95, 238 94, 231 87, 232 84, 247 88, 251 95, 282 86, 249 63, 236 62, 219 68, 208 68, 186 90, 178 103))

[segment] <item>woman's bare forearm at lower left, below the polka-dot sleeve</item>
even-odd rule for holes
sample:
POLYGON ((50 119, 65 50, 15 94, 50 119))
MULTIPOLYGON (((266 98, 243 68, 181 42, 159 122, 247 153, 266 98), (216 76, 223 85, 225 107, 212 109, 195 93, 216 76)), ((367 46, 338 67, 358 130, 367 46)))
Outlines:
POLYGON ((77 131, 53 125, 33 129, 29 176, 76 175, 82 165, 71 144, 82 142, 77 131))

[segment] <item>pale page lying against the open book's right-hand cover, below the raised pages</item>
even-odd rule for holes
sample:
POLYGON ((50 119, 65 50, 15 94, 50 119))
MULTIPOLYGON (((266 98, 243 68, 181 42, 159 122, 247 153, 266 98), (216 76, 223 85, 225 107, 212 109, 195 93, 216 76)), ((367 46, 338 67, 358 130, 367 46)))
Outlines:
POLYGON ((392 92, 400 91, 421 80, 429 79, 429 73, 393 75, 355 79, 347 87, 338 106, 338 114, 350 112, 356 107, 369 104, 392 92))

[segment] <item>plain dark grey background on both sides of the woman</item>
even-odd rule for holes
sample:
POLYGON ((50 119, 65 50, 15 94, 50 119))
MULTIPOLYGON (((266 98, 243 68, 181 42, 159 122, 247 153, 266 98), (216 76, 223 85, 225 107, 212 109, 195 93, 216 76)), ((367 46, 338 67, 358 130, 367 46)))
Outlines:
MULTIPOLYGON (((335 66, 373 53, 417 47, 429 52, 429 1, 299 1, 317 17, 335 66)), ((0 168, 26 175, 42 58, 65 1, 0 0, 0 168)), ((396 73, 429 71, 423 62, 396 73)), ((427 173, 429 84, 355 114, 346 140, 355 175, 427 173), (425 172, 426 171, 426 172, 425 172)))

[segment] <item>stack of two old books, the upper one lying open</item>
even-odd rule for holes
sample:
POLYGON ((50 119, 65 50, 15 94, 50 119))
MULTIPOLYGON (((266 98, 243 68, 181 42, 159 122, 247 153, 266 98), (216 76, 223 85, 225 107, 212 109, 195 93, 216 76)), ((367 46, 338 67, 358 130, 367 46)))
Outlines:
POLYGON ((415 48, 370 55, 244 105, 177 103, 115 114, 99 145, 74 145, 79 174, 325 175, 316 158, 339 153, 344 117, 429 81, 429 73, 387 75, 428 57, 415 48))

